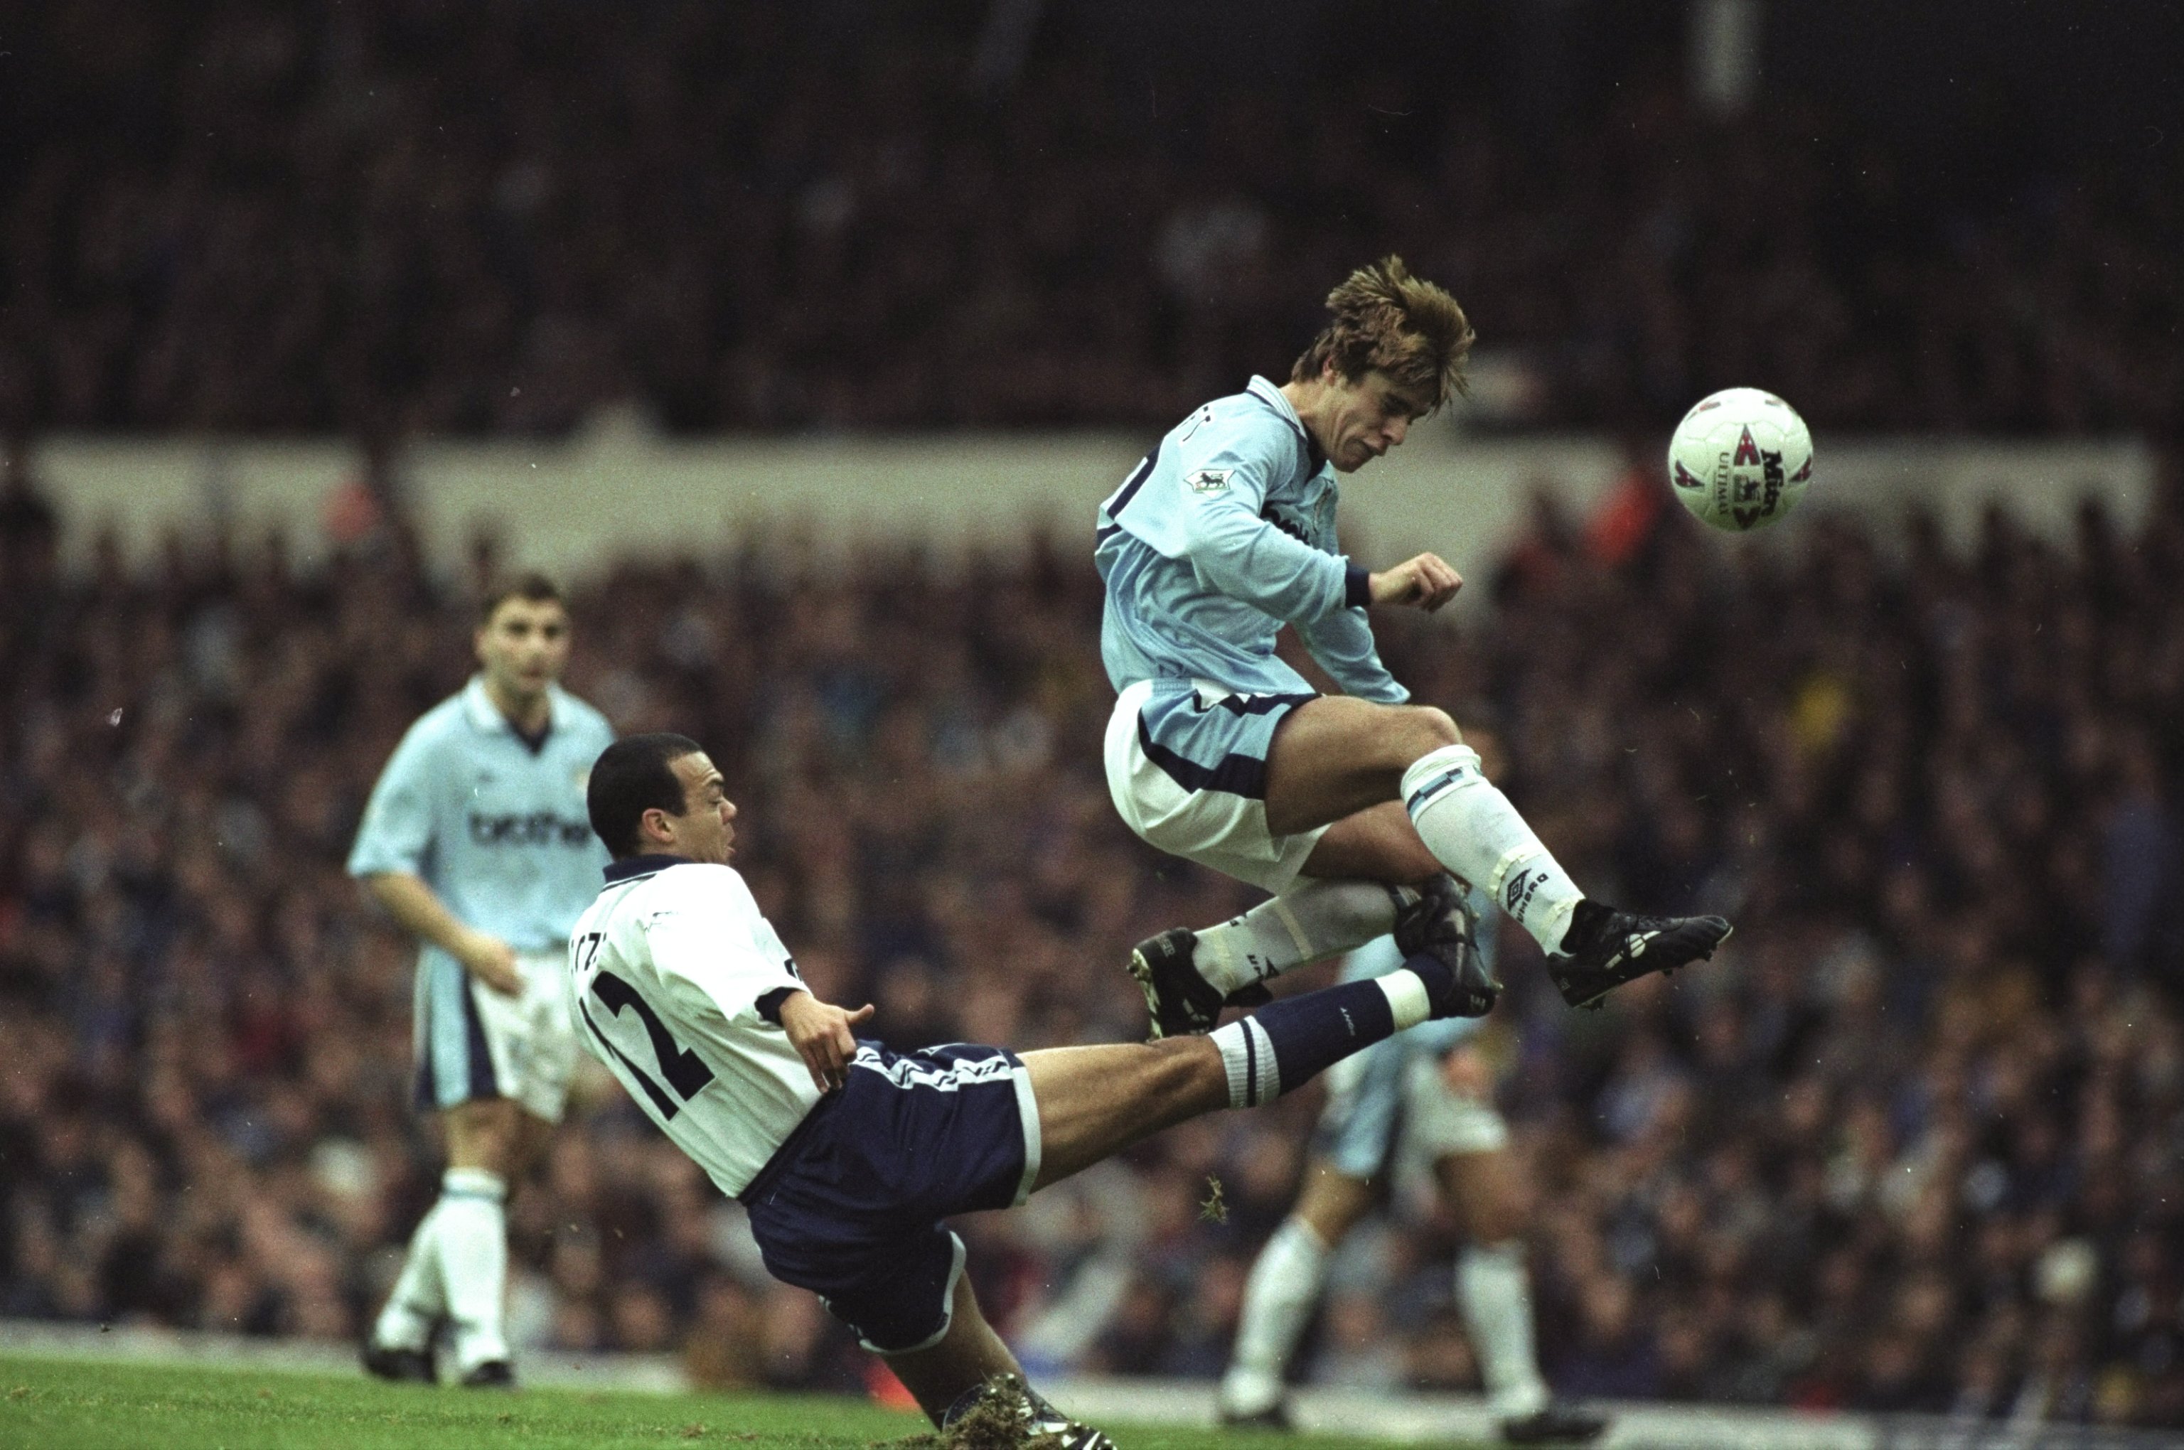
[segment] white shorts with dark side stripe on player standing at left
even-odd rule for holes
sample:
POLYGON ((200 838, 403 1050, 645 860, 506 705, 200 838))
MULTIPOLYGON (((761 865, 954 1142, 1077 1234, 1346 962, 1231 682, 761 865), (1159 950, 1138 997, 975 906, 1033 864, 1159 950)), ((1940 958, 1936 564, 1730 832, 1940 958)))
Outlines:
POLYGON ((513 1098, 559 1122, 577 1070, 563 952, 518 952, 522 996, 502 996, 432 952, 417 967, 417 1105, 513 1098))

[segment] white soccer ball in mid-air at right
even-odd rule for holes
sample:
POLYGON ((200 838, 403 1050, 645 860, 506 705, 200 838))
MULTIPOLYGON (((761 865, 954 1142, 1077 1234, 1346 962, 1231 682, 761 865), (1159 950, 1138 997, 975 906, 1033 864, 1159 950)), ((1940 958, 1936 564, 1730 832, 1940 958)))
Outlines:
POLYGON ((1669 439, 1671 491, 1714 528, 1765 528, 1797 507, 1811 480, 1813 435, 1760 389, 1701 397, 1669 439))

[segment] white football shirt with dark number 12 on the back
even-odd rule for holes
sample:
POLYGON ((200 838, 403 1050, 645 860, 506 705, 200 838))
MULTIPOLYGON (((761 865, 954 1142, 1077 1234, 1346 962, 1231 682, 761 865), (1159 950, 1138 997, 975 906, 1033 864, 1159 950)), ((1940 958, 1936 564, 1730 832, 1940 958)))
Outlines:
POLYGON ((732 867, 633 856, 570 935, 577 1035, 721 1192, 743 1192, 819 1101, 758 1002, 804 991, 732 867))

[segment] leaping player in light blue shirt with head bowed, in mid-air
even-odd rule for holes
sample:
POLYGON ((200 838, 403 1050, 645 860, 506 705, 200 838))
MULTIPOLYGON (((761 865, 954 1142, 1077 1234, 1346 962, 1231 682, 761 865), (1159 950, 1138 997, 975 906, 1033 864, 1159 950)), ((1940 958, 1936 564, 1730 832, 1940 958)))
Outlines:
POLYGON ((1710 956, 1730 935, 1721 917, 1586 900, 1455 721, 1406 705, 1380 664, 1365 609, 1439 609, 1463 581, 1437 555, 1350 563, 1334 476, 1463 389, 1472 328, 1400 258, 1350 273, 1328 310, 1289 382, 1251 378, 1206 404, 1099 509, 1116 810, 1160 849, 1273 893, 1138 946, 1153 1035, 1206 1031, 1225 1002, 1265 1000, 1269 976, 1391 930, 1404 954, 1446 952, 1483 1015, 1500 985, 1463 946, 1450 873, 1533 935, 1572 1007, 1710 956), (1315 694, 1275 657, 1284 622, 1343 694, 1315 694))

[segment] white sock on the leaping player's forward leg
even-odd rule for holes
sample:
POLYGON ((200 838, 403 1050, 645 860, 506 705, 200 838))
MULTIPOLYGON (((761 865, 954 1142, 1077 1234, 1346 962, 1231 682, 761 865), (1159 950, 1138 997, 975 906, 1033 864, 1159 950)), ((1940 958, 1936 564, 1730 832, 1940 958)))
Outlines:
POLYGON ((1542 952, 1559 952, 1586 893, 1546 854, 1509 797, 1479 771, 1470 745, 1444 745, 1402 773, 1402 804, 1433 856, 1483 887, 1542 952))

